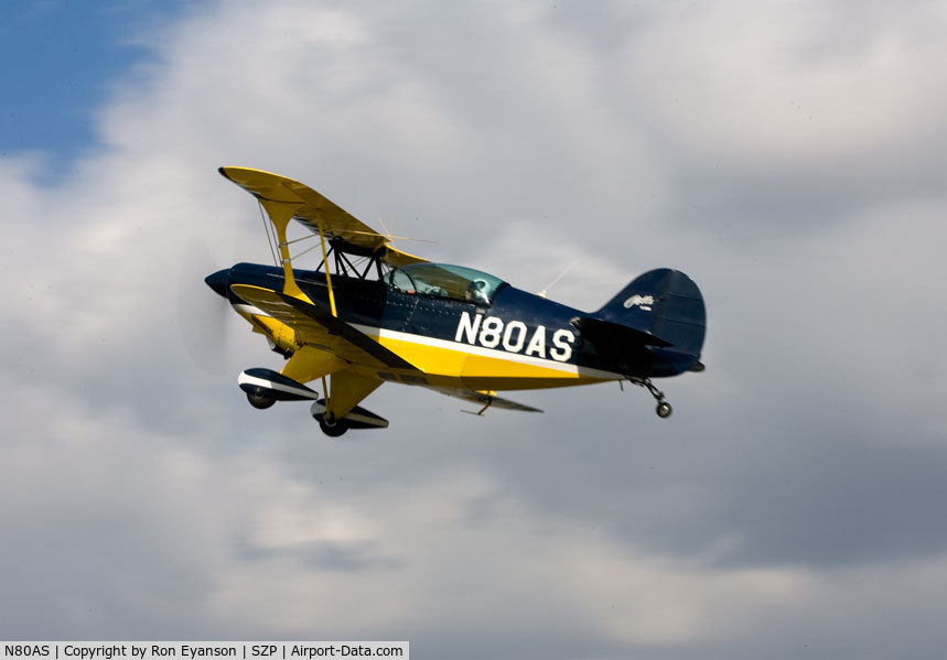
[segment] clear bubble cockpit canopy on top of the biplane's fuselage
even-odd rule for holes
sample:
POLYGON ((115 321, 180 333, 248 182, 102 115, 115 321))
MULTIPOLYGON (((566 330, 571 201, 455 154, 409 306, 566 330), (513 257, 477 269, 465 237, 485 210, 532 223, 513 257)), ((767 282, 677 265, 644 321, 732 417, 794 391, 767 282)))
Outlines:
POLYGON ((505 284, 485 272, 446 263, 410 263, 392 270, 388 283, 405 293, 423 293, 489 305, 505 284))

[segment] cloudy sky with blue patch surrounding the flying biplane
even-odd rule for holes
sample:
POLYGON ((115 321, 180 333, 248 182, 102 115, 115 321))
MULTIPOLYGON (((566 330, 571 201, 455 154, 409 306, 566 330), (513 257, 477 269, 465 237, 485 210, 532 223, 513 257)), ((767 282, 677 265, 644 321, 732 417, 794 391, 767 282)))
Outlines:
POLYGON ((0 637, 943 657, 947 2, 77 7, 0 21, 0 637), (708 369, 251 409, 225 164, 580 309, 681 269, 708 369))

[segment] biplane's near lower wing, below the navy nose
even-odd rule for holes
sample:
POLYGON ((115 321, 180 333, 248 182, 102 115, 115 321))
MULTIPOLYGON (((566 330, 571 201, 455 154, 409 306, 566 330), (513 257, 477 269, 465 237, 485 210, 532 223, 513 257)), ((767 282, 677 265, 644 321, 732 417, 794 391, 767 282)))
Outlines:
POLYGON ((293 328, 302 344, 327 350, 343 360, 373 369, 419 371, 363 332, 310 303, 278 291, 233 284, 234 293, 293 328))

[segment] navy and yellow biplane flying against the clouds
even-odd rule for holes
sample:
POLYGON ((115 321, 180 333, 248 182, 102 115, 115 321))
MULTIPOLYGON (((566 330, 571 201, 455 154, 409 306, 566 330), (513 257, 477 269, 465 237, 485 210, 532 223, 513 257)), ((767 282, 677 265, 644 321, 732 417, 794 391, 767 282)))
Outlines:
POLYGON ((388 426, 359 405, 385 382, 464 399, 483 414, 541 412, 499 391, 628 381, 646 388, 667 418, 670 403, 652 379, 703 370, 703 299, 680 271, 646 272, 599 311, 582 312, 398 250, 387 234, 291 178, 219 172, 257 198, 275 248, 275 266, 237 263, 205 279, 286 359, 279 371, 240 374, 255 408, 309 401, 322 431, 338 436, 388 426), (311 234, 289 240, 291 220, 311 234), (305 238, 319 241, 309 249, 321 248, 315 270, 293 268, 290 248, 305 238))

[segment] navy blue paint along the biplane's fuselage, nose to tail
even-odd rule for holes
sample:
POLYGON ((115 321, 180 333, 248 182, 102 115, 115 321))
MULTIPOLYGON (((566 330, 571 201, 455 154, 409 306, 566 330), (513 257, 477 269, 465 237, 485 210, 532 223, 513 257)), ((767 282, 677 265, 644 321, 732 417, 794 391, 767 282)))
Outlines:
MULTIPOLYGON (((329 312, 329 290, 322 272, 294 270, 297 283, 315 307, 294 299, 293 305, 318 318, 356 345, 367 339, 352 334, 346 324, 357 324, 410 333, 453 342, 464 312, 495 316, 504 322, 520 321, 527 326, 527 339, 537 326, 546 327, 547 355, 556 331, 568 329, 575 336, 572 355, 566 364, 637 377, 675 376, 688 370, 700 358, 704 336, 704 306, 697 285, 686 274, 658 269, 644 273, 626 285, 593 314, 562 305, 508 284, 497 290, 492 306, 477 305, 421 293, 405 293, 384 281, 360 280, 342 274, 332 278, 338 318, 329 312), (641 305, 626 307, 631 296, 650 295, 652 311, 641 305), (347 328, 347 329, 346 329, 347 328)), ((230 302, 241 302, 229 290, 230 284, 250 284, 282 291, 282 269, 255 263, 238 263, 229 270, 206 278, 217 293, 227 293, 230 302)), ((483 321, 481 322, 483 323, 483 321)), ((375 342, 365 344, 368 350, 375 342), (370 344, 370 345, 369 345, 370 344)), ((526 344, 524 344, 525 350, 526 344)), ((496 346, 505 350, 501 343, 496 346)), ((373 355, 374 350, 368 350, 373 355)), ((520 350, 520 354, 524 351, 520 350)), ((392 367, 394 354, 378 355, 392 367)))

